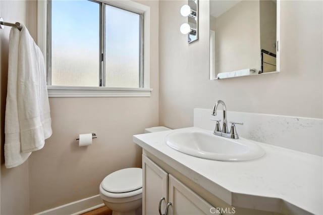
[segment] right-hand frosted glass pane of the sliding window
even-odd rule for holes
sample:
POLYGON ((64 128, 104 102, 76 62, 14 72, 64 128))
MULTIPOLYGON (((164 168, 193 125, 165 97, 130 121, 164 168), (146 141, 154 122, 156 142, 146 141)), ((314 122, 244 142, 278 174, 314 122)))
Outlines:
POLYGON ((105 6, 105 86, 139 87, 140 15, 105 6))

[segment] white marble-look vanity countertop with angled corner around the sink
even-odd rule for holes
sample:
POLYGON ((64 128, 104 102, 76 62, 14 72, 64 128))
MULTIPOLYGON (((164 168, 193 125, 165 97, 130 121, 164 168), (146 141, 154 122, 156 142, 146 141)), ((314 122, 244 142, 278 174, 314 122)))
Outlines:
MULTIPOLYGON (((133 140, 228 204, 273 212, 323 214, 321 156, 255 142, 265 155, 244 162, 193 157, 170 148, 165 136, 196 127, 134 135, 133 140)), ((306 144, 306 143, 304 143, 306 144)))

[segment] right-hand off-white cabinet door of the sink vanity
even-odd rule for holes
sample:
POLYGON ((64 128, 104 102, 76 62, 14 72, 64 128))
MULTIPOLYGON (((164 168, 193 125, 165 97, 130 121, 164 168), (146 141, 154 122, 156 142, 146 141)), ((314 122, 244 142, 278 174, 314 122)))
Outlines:
POLYGON ((172 175, 169 175, 169 199, 172 203, 165 215, 217 214, 212 205, 194 193, 172 175))

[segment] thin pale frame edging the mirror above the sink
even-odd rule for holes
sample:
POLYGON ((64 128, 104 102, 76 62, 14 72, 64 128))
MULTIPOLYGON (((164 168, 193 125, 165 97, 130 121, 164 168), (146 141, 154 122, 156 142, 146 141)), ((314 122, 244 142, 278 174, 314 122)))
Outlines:
MULTIPOLYGON (((210 1, 216 1, 216 0, 208 0, 208 19, 210 17, 210 1)), ((250 0, 252 1, 252 0, 250 0)), ((261 0, 259 0, 261 1, 261 0)), ((209 80, 222 80, 222 79, 230 79, 230 78, 237 78, 237 77, 245 77, 245 76, 255 76, 255 75, 266 75, 266 74, 274 74, 274 73, 280 73, 280 56, 281 56, 281 50, 282 50, 282 43, 281 43, 281 0, 277 0, 277 18, 276 18, 276 71, 274 72, 266 72, 266 73, 256 73, 256 74, 249 74, 249 75, 240 75, 240 76, 233 76, 233 77, 226 77, 226 78, 218 78, 217 73, 215 70, 211 70, 214 67, 214 64, 211 62, 211 56, 214 56, 213 51, 211 50, 211 32, 210 32, 210 22, 208 23, 208 32, 209 32, 209 55, 208 55, 208 61, 209 61, 209 80)), ((260 56, 260 55, 259 55, 260 56)))

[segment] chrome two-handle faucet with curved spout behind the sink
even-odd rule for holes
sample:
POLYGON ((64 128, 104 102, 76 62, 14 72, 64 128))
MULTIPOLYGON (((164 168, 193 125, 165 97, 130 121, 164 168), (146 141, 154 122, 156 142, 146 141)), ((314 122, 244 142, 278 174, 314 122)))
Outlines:
POLYGON ((216 104, 214 104, 211 115, 212 116, 217 116, 217 109, 219 104, 222 104, 223 106, 223 124, 222 124, 222 129, 220 127, 220 122, 221 120, 217 119, 210 119, 217 121, 216 128, 214 129, 213 134, 217 136, 222 136, 222 137, 228 137, 232 139, 239 139, 239 135, 237 133, 236 129, 236 124, 237 125, 243 125, 243 123, 237 123, 237 122, 230 122, 231 123, 231 129, 228 131, 228 125, 227 125, 227 106, 224 103, 223 100, 218 100, 216 104))

